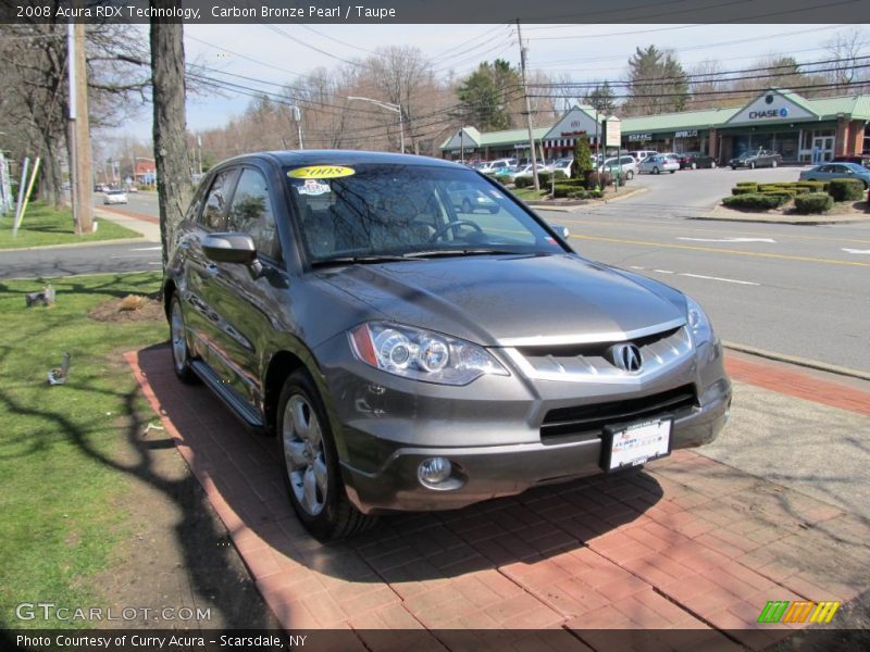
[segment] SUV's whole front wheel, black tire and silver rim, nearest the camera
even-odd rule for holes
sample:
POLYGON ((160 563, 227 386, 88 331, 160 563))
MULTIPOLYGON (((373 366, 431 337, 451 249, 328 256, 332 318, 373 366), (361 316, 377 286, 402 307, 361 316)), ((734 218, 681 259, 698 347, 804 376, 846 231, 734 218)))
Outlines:
POLYGON ((275 419, 284 484, 299 521, 321 541, 361 532, 376 517, 355 507, 345 492, 323 400, 304 371, 284 381, 275 419))

